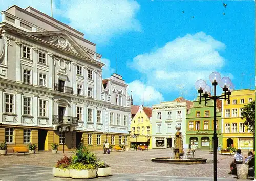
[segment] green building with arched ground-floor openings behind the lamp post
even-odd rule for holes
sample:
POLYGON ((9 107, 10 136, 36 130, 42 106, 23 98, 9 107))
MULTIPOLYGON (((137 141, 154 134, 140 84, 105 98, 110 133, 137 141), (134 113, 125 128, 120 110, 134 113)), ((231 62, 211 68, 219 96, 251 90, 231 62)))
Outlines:
MULTIPOLYGON (((218 145, 222 145, 221 134, 221 100, 217 100, 217 136, 218 145)), ((186 144, 189 147, 192 142, 197 149, 211 150, 213 148, 212 136, 214 134, 214 101, 207 101, 205 106, 204 98, 201 104, 199 97, 193 102, 190 111, 186 114, 186 144)))

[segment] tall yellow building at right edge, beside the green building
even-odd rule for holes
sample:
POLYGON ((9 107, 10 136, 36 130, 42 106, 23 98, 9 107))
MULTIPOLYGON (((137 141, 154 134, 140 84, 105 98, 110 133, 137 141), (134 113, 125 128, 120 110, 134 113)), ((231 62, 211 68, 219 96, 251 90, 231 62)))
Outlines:
POLYGON ((255 90, 234 90, 228 101, 222 101, 222 148, 231 144, 237 149, 253 150, 253 133, 243 125, 241 111, 246 104, 255 100, 255 90))

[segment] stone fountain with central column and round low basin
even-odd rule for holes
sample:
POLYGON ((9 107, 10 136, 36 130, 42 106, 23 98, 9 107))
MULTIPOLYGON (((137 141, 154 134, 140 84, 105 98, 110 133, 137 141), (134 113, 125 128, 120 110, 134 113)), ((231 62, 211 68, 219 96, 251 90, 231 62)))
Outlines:
POLYGON ((206 163, 207 159, 187 158, 186 156, 184 156, 183 140, 182 140, 182 134, 180 132, 181 126, 176 125, 175 128, 176 128, 177 132, 175 134, 175 136, 176 136, 175 147, 173 148, 174 158, 159 157, 159 158, 152 158, 151 161, 152 162, 163 162, 163 163, 175 163, 175 164, 202 164, 202 163, 206 163))

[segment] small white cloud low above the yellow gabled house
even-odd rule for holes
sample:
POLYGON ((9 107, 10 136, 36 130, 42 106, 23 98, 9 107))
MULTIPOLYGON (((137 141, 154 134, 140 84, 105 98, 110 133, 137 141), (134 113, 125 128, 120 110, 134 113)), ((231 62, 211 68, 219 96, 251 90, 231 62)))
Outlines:
POLYGON ((128 90, 133 96, 134 105, 144 104, 150 106, 163 101, 163 95, 152 86, 146 86, 143 82, 135 80, 128 84, 128 90))

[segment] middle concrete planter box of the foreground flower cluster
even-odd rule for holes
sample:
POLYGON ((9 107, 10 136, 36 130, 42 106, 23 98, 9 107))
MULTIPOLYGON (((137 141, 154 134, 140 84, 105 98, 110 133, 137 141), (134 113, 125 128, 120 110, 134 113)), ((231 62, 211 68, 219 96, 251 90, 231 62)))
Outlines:
POLYGON ((96 169, 80 170, 80 171, 75 169, 70 169, 69 176, 71 178, 83 178, 83 179, 96 178, 96 169))

